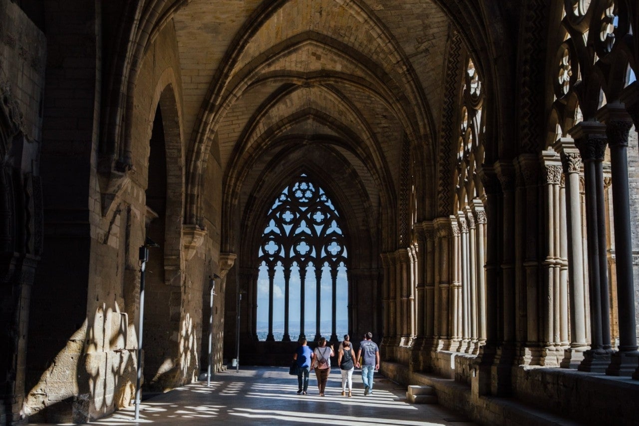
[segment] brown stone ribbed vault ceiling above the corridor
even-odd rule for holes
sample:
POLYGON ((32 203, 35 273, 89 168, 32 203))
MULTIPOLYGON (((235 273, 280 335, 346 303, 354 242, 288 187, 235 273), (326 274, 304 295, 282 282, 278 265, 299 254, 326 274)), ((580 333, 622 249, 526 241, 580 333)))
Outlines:
POLYGON ((279 157, 339 153, 335 182, 373 209, 397 203, 404 139, 436 163, 450 22, 432 1, 191 0, 173 22, 185 135, 240 210, 279 157))

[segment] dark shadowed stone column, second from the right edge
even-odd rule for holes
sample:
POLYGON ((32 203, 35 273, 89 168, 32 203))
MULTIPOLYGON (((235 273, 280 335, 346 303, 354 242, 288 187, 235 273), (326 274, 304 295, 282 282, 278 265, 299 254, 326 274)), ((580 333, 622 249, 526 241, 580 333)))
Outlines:
POLYGON ((606 223, 603 199, 604 126, 581 122, 569 130, 585 163, 586 222, 590 283, 592 344, 584 352, 580 371, 604 372, 610 363, 610 311, 606 259, 606 223), (603 238, 602 238, 603 237, 603 238))

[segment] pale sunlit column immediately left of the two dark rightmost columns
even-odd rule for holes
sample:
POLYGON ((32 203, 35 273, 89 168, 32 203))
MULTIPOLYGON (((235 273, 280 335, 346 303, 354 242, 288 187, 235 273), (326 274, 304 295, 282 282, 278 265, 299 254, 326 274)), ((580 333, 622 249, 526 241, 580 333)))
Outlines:
POLYGON ((561 367, 577 368, 588 349, 586 339, 585 285, 583 282, 583 245, 581 237, 581 200, 579 173, 581 155, 574 147, 573 139, 561 138, 555 143, 560 152, 562 168, 566 176, 566 234, 568 258, 568 282, 570 285, 570 348, 564 352, 561 367))

